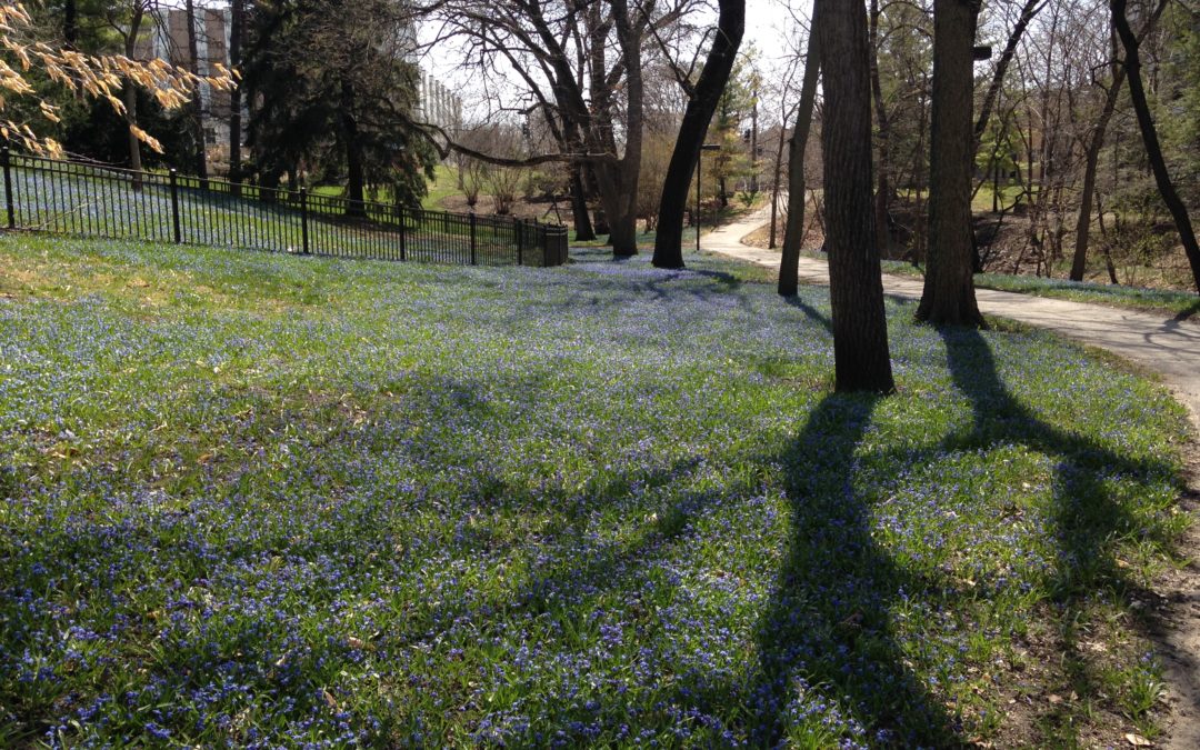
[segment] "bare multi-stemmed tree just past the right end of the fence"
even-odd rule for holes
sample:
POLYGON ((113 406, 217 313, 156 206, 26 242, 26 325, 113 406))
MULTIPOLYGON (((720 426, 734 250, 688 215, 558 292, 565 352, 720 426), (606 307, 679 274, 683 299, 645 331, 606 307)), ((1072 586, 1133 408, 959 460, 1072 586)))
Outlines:
MULTIPOLYGON (((496 107, 540 115, 559 143, 558 154, 533 155, 522 163, 571 162, 580 173, 577 179, 572 175, 575 186, 594 185, 613 254, 623 257, 637 252, 643 48, 649 34, 678 22, 691 2, 438 0, 424 12, 443 23, 443 38, 464 43, 466 64, 473 71, 485 78, 505 71, 509 80, 491 92, 496 107), (504 88, 520 89, 522 103, 500 101, 504 88)), ((460 150, 460 145, 445 140, 442 148, 460 150)))

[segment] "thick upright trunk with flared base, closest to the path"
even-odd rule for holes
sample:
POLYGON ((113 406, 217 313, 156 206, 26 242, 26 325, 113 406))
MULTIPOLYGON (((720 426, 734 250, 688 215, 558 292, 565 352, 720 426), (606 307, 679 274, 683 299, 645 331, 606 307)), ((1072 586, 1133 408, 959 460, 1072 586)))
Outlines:
POLYGON ((973 2, 934 0, 929 258, 917 319, 935 325, 984 325, 971 274, 972 47, 977 11, 973 2))

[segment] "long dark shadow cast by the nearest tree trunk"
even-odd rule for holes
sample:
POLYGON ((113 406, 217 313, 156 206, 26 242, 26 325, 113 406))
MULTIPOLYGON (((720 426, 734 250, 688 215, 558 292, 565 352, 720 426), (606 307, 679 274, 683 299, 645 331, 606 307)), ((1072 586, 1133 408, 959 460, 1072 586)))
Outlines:
POLYGON ((810 689, 842 698, 850 713, 842 719, 871 731, 874 742, 956 744, 952 718, 906 666, 888 612, 905 590, 926 584, 875 542, 869 508, 853 486, 854 452, 877 402, 827 396, 780 456, 792 517, 775 593, 757 629, 760 674, 749 696, 758 707, 756 744, 773 746, 797 731, 796 716, 812 710, 810 689))

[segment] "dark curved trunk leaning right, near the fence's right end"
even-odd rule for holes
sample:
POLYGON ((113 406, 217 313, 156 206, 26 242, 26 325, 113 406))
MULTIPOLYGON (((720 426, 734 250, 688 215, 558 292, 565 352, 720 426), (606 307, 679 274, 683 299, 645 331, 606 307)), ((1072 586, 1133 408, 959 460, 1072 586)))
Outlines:
MULTIPOLYGON (((745 29, 745 0, 719 0, 719 4, 716 36, 684 110, 666 179, 662 180, 653 259, 654 265, 660 269, 683 268, 683 216, 690 192, 688 185, 691 184, 701 146, 708 134, 708 124, 730 79, 745 29)), ((696 230, 700 230, 698 226, 696 230)))

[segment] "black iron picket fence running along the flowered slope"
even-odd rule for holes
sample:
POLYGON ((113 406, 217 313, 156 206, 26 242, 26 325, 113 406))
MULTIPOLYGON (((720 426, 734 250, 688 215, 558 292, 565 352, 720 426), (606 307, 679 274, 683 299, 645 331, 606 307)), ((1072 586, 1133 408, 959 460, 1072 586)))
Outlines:
POLYGON ((0 151, 10 229, 461 265, 562 265, 566 228, 0 151))

